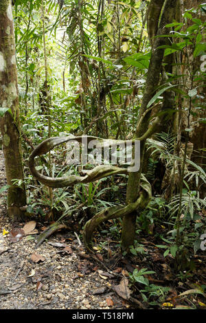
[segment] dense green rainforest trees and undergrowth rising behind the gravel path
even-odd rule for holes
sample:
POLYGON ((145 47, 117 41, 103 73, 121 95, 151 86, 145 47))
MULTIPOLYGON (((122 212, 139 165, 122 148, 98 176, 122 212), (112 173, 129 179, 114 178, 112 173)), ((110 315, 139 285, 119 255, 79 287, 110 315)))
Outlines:
POLYGON ((0 0, 0 22, 1 216, 130 261, 137 308, 206 308, 206 3, 0 0))

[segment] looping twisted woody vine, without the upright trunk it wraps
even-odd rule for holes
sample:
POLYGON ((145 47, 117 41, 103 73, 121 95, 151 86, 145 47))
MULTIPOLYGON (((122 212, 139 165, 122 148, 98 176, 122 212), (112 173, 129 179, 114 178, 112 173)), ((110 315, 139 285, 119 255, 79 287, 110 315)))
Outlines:
MULTIPOLYGON (((35 157, 48 153, 55 146, 58 146, 65 142, 69 142, 69 141, 82 142, 82 137, 83 136, 52 137, 41 142, 41 144, 39 144, 34 149, 34 151, 32 151, 32 154, 29 157, 29 168, 32 175, 36 177, 36 179, 38 179, 38 181, 43 183, 45 186, 49 186, 52 188, 62 188, 65 186, 74 186, 78 183, 93 182, 98 179, 102 179, 104 177, 108 177, 111 175, 128 174, 128 170, 126 168, 119 168, 111 165, 100 165, 100 166, 95 166, 95 168, 93 168, 92 170, 84 170, 84 172, 86 173, 86 175, 84 176, 70 175, 68 177, 57 177, 57 178, 42 175, 40 172, 38 172, 38 170, 36 170, 34 166, 35 157)), ((104 141, 102 138, 87 136, 87 142, 90 142, 91 140, 97 140, 97 139, 104 141)), ((110 144, 112 143, 115 144, 115 142, 117 142, 116 140, 105 140, 105 141, 106 142, 109 141, 110 144)), ((134 203, 129 203, 126 206, 118 205, 111 208, 106 208, 105 210, 98 212, 98 214, 95 214, 93 218, 87 221, 86 225, 84 226, 83 240, 84 240, 84 245, 89 252, 92 252, 91 240, 92 240, 93 232, 95 231, 96 227, 100 225, 100 223, 110 219, 117 219, 119 217, 122 218, 123 216, 128 215, 134 212, 135 210, 141 211, 144 208, 146 208, 146 205, 150 201, 152 193, 151 193, 150 183, 147 181, 144 175, 141 175, 140 187, 141 187, 141 190, 139 192, 139 197, 137 198, 137 201, 135 201, 134 203)))

